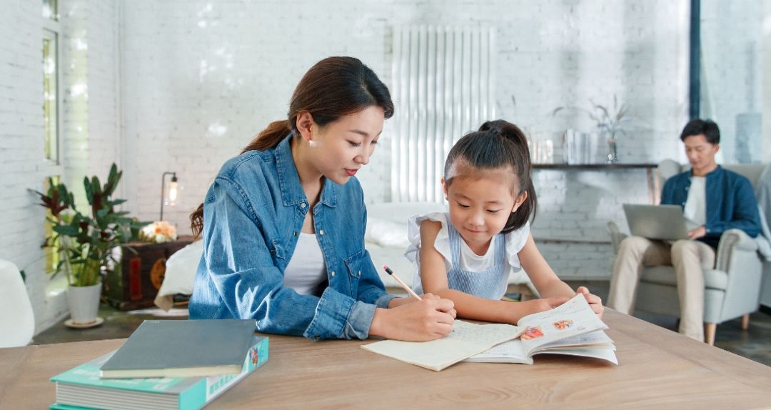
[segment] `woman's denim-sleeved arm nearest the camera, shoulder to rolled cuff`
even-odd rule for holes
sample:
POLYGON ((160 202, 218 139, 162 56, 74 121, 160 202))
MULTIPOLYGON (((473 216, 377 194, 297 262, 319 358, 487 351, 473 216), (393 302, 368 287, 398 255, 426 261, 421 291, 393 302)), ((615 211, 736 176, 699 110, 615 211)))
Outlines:
POLYGON ((273 259, 281 249, 271 248, 267 234, 278 227, 270 225, 274 223, 270 217, 260 220, 252 202, 226 179, 218 178, 207 195, 205 272, 197 276, 196 286, 209 293, 200 298, 202 302, 224 304, 213 308, 227 310, 212 316, 254 318, 260 331, 310 339, 366 337, 374 305, 332 288, 318 297, 284 286, 284 276, 273 259))

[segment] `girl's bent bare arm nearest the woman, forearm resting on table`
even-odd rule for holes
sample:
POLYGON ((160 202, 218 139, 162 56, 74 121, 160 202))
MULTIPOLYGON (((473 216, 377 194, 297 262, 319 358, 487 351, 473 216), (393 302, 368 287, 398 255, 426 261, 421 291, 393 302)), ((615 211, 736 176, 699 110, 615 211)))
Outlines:
MULTIPOLYGON (((567 300, 563 297, 517 303, 485 299, 460 290, 449 289, 444 257, 434 246, 440 229, 442 229, 441 222, 430 220, 420 222, 420 281, 423 283, 424 292, 452 300, 458 317, 517 324, 521 317, 549 310, 567 300)), ((567 289, 570 290, 569 287, 567 289)), ((571 291, 571 296, 574 294, 571 291)))

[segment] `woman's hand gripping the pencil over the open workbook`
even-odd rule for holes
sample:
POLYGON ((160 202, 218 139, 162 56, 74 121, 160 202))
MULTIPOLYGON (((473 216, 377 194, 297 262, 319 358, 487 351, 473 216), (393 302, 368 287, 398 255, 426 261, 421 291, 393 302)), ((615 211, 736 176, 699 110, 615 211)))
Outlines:
POLYGON ((453 331, 453 301, 430 293, 421 297, 423 300, 392 300, 392 309, 375 309, 369 335, 398 341, 433 341, 453 331))

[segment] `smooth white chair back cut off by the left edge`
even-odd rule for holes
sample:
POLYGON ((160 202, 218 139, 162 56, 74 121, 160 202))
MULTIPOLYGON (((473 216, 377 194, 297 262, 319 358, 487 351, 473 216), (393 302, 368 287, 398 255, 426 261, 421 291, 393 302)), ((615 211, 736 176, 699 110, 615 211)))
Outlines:
POLYGON ((19 268, 0 259, 0 347, 25 346, 35 334, 35 314, 19 268))

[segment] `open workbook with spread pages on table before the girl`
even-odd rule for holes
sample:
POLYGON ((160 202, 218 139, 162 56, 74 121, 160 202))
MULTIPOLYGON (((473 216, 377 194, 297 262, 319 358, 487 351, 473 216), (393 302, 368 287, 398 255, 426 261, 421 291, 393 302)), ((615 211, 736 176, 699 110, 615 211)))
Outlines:
POLYGON ((510 324, 470 324, 456 320, 452 333, 435 341, 379 341, 368 351, 440 371, 458 361, 532 363, 533 354, 558 353, 598 357, 618 364, 605 325, 583 295, 546 312, 510 324), (505 342, 505 343, 504 343, 505 342))

